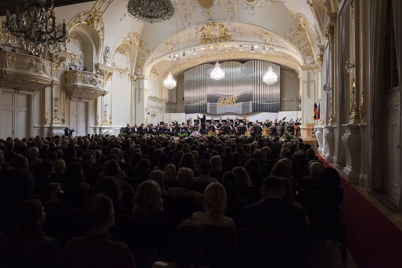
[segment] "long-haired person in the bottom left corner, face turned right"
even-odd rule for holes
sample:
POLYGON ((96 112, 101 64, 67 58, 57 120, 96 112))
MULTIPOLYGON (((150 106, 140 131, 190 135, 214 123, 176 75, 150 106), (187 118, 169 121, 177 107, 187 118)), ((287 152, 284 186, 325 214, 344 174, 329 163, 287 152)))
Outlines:
POLYGON ((2 267, 47 267, 50 258, 61 252, 57 240, 47 237, 41 227, 45 219, 45 210, 39 199, 17 204, 14 209, 15 228, 0 245, 2 267))

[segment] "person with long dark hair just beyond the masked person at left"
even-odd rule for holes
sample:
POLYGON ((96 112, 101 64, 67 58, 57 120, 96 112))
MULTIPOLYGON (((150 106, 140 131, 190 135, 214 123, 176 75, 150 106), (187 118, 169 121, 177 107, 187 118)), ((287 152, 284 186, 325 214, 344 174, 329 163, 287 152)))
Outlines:
POLYGON ((71 163, 64 171, 61 188, 65 191, 67 200, 78 208, 84 208, 89 198, 89 185, 85 183, 81 164, 71 163))

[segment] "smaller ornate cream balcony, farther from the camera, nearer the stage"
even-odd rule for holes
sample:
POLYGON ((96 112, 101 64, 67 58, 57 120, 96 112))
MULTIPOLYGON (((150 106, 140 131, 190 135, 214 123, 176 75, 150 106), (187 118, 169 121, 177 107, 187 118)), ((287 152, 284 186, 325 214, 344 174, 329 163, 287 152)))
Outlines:
POLYGON ((109 93, 107 78, 95 73, 94 69, 66 66, 64 88, 67 96, 79 99, 95 99, 109 93))

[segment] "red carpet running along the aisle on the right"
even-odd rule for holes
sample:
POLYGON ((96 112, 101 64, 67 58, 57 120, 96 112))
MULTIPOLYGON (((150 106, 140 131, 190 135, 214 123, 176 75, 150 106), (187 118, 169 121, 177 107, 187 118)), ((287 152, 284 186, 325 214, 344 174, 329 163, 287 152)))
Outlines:
POLYGON ((357 267, 402 267, 402 231, 343 178, 341 187, 348 248, 357 267))

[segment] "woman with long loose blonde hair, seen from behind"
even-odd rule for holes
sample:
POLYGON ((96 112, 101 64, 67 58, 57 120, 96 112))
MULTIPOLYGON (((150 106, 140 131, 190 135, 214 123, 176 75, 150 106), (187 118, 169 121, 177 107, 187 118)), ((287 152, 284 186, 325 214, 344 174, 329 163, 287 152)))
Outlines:
POLYGON ((140 184, 134 197, 133 214, 142 219, 149 219, 164 214, 163 200, 159 185, 152 180, 140 184))

